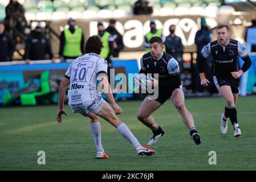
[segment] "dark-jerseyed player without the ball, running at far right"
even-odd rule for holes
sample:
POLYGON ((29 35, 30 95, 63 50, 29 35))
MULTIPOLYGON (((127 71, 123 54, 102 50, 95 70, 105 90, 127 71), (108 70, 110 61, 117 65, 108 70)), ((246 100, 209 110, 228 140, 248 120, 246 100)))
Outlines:
POLYGON ((201 85, 208 86, 209 84, 204 74, 204 61, 212 55, 214 59, 213 81, 226 101, 225 113, 221 115, 221 133, 227 132, 227 119, 229 118, 234 127, 234 137, 241 137, 235 104, 238 99, 240 77, 250 68, 251 59, 241 43, 229 38, 229 25, 220 24, 216 31, 218 40, 202 48, 201 54, 198 56, 201 85), (237 56, 245 62, 242 68, 238 68, 237 56))

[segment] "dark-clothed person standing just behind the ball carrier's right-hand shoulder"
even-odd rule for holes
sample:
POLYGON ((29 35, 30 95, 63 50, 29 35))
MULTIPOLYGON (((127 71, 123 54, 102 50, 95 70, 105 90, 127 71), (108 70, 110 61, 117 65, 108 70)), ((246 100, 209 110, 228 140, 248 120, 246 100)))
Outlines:
POLYGON ((180 71, 182 72, 182 53, 184 46, 181 42, 181 38, 174 34, 175 28, 174 24, 169 27, 170 34, 165 39, 165 49, 169 55, 173 56, 174 59, 178 61, 180 71))

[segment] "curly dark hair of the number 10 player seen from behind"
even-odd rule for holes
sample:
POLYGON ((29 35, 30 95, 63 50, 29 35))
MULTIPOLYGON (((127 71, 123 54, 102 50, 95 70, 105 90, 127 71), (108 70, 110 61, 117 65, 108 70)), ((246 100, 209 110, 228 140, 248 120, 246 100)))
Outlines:
POLYGON ((100 55, 101 48, 103 48, 103 43, 101 42, 99 36, 90 36, 84 44, 84 53, 94 52, 97 55, 100 55))

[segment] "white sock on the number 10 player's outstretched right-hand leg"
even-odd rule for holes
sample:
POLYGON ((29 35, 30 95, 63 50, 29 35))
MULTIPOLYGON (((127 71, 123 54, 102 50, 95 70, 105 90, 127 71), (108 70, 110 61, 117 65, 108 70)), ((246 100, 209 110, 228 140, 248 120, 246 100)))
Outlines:
POLYGON ((120 135, 122 135, 125 139, 127 139, 134 148, 141 147, 141 144, 137 140, 137 138, 134 137, 131 130, 128 129, 128 127, 125 125, 125 123, 121 123, 116 129, 120 135))

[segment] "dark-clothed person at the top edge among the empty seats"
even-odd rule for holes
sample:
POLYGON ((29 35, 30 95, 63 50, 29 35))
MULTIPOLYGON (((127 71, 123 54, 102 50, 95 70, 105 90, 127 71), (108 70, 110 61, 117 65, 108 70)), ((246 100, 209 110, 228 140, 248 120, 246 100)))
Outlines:
POLYGON ((147 0, 138 0, 133 5, 133 14, 135 15, 149 15, 152 13, 152 4, 147 0))

